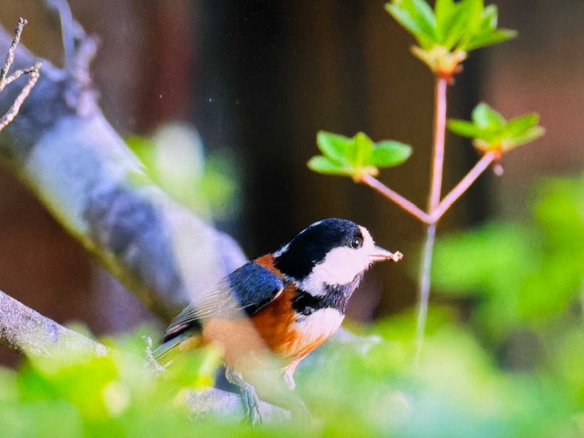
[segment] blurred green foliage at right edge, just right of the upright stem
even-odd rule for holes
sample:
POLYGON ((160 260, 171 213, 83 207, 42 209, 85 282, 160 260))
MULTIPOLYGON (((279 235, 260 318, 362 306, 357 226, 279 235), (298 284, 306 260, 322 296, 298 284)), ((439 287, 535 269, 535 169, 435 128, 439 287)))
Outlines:
POLYGON ((434 285, 479 298, 473 318, 494 336, 562 318, 584 290, 584 179, 541 183, 531 212, 526 223, 484 225, 436 247, 434 285))

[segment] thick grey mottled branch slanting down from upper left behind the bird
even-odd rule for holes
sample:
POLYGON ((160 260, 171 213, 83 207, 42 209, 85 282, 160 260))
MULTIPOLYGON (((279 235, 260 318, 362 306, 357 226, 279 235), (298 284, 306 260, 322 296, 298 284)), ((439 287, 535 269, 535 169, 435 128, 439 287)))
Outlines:
MULTIPOLYGON (((2 32, 0 50, 10 43, 2 32)), ((16 50, 17 65, 39 61, 16 50)), ((0 133, 0 158, 142 303, 172 318, 245 256, 232 238, 148 182, 87 82, 43 64, 19 116, 0 133)), ((13 88, 0 93, 0 108, 14 102, 13 88)))

